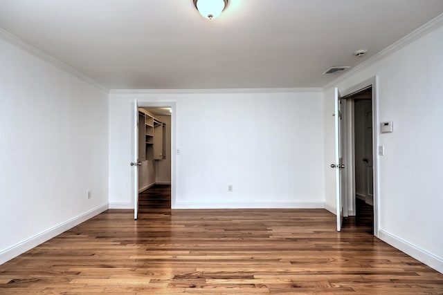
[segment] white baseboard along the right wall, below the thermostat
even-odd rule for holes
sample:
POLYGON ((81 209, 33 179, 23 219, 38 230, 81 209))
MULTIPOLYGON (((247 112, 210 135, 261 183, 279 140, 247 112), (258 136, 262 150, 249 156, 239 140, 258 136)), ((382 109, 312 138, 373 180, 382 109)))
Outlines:
POLYGON ((419 260, 420 262, 432 267, 437 270, 437 272, 443 273, 443 258, 438 257, 431 252, 426 251, 410 242, 391 234, 388 231, 379 229, 379 238, 384 242, 387 242, 392 247, 403 251, 404 253, 412 256, 413 258, 419 260))

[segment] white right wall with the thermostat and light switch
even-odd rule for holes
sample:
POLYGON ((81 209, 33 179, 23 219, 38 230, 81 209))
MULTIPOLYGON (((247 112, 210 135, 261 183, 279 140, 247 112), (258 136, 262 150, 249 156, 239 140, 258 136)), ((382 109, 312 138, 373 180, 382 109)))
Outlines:
MULTIPOLYGON (((379 121, 393 133, 378 133, 380 237, 443 272, 443 28, 342 79, 350 88, 378 75, 379 121)), ((325 158, 334 151, 333 88, 325 89, 325 158)), ((377 129, 379 132, 379 129, 377 129)), ((333 169, 329 169, 333 170, 333 169)), ((332 171, 325 173, 326 201, 335 207, 332 171)))

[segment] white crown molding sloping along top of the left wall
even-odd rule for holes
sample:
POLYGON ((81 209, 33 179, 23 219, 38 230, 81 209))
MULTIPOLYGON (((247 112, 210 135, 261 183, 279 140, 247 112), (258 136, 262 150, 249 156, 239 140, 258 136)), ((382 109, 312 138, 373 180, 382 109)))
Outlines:
POLYGON ((80 73, 78 70, 75 70, 75 68, 72 68, 71 66, 68 66, 67 64, 64 64, 64 62, 60 61, 59 59, 56 59, 55 57, 48 55, 47 53, 40 50, 39 48, 28 44, 26 41, 20 39, 19 37, 15 36, 15 35, 12 35, 10 32, 3 30, 2 28, 0 28, 0 38, 3 39, 4 41, 8 42, 9 44, 17 46, 18 48, 25 50, 27 53, 30 53, 31 55, 38 57, 39 59, 42 59, 43 61, 48 62, 48 64, 51 64, 52 66, 55 66, 56 68, 59 68, 60 70, 63 70, 64 72, 69 73, 70 75, 73 75, 74 77, 82 80, 83 82, 86 82, 87 84, 90 84, 90 85, 100 89, 100 91, 103 91, 105 93, 109 93, 109 89, 106 88, 105 86, 98 84, 97 82, 93 81, 93 79, 80 73))

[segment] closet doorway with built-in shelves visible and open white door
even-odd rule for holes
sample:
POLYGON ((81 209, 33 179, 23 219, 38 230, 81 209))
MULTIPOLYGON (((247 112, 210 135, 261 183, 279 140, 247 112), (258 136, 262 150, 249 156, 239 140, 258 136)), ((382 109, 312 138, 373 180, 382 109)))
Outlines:
POLYGON ((158 189, 157 192, 161 193, 154 193, 154 196, 161 194, 160 198, 164 198, 166 194, 169 196, 168 209, 175 207, 175 110, 175 102, 139 102, 134 99, 130 165, 133 167, 131 194, 135 220, 138 219, 140 193, 156 185, 165 187, 158 189), (159 113, 165 111, 167 113, 159 113))

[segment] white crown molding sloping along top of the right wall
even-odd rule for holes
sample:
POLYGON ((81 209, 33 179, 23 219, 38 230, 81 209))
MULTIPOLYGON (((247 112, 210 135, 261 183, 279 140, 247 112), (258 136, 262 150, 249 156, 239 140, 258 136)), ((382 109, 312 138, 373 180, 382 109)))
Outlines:
POLYGON ((376 55, 370 57, 369 59, 363 61, 361 64, 350 69, 346 73, 343 73, 343 75, 336 78, 334 81, 323 86, 323 89, 327 89, 327 88, 331 88, 331 87, 336 86, 338 83, 342 82, 343 80, 347 79, 348 77, 350 77, 356 73, 359 73, 359 71, 361 71, 365 68, 368 68, 369 66, 372 66, 373 64, 377 63, 381 59, 384 59, 384 58, 392 55, 393 53, 396 53, 401 48, 404 48, 408 44, 411 44, 414 41, 417 41, 418 39, 424 37, 425 35, 428 35, 428 33, 432 32, 433 30, 437 30, 437 28, 440 28, 441 26, 443 26, 443 13, 441 15, 435 17, 431 21, 428 21, 423 26, 417 28, 417 30, 410 32, 408 35, 399 39, 399 41, 395 42, 394 44, 381 50, 376 55))

